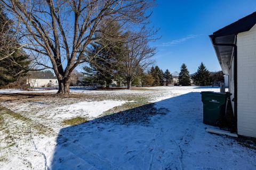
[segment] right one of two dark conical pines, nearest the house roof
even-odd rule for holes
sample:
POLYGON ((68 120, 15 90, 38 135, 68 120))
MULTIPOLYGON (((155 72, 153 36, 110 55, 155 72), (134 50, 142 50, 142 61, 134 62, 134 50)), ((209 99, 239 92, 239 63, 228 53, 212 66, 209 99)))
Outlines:
POLYGON ((198 86, 208 86, 211 85, 211 75, 210 72, 206 69, 203 62, 197 69, 196 74, 193 76, 195 85, 198 86))

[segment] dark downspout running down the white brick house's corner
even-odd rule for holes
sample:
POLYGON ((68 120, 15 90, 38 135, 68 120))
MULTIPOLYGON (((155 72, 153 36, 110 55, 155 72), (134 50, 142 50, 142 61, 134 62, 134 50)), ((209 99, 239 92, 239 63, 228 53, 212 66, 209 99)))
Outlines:
MULTIPOLYGON (((218 44, 215 43, 215 37, 212 38, 212 44, 214 46, 232 46, 234 47, 234 118, 235 128, 237 132, 237 45, 236 44, 218 44)), ((237 42, 237 35, 235 35, 235 43, 237 42)))

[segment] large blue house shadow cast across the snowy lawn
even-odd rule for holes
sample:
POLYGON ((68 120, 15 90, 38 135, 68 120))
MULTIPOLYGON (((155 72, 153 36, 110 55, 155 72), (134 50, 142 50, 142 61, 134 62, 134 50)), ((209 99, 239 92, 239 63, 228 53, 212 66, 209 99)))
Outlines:
POLYGON ((255 165, 234 139, 205 132, 199 92, 60 129, 49 169, 225 169, 255 165), (236 154, 234 154, 236 153, 236 154), (214 160, 214 161, 212 161, 214 160))

